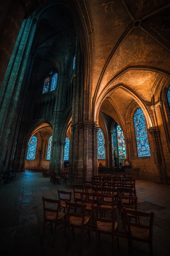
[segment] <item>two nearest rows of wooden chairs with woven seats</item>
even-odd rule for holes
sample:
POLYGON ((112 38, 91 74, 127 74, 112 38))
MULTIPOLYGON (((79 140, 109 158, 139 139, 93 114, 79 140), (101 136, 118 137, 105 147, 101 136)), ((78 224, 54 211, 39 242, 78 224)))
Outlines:
MULTIPOLYGON (((85 230, 88 231, 89 241, 90 241, 90 231, 96 232, 97 238, 97 252, 99 254, 99 246, 100 246, 100 233, 108 234, 112 236, 112 251, 113 255, 115 252, 115 238, 117 239, 117 246, 119 247, 119 237, 128 239, 128 247, 129 251, 131 250, 132 255, 134 255, 133 249, 133 240, 141 241, 149 243, 150 248, 150 255, 153 255, 152 249, 152 228, 153 228, 153 217, 154 213, 145 213, 137 211, 137 198, 134 197, 124 197, 119 194, 119 201, 121 202, 121 214, 124 223, 125 230, 119 231, 118 224, 116 221, 116 207, 113 204, 113 195, 104 195, 104 194, 97 194, 97 193, 88 193, 88 192, 81 192, 81 204, 72 203, 71 202, 71 192, 66 191, 58 191, 59 200, 51 200, 43 198, 43 206, 44 206, 44 225, 43 225, 43 236, 44 231, 46 229, 45 223, 47 221, 51 223, 55 223, 55 230, 54 230, 54 239, 53 239, 53 247, 55 245, 55 236, 56 236, 56 227, 57 225, 63 225, 65 235, 67 234, 66 226, 68 226, 68 240, 67 240, 67 250, 69 249, 70 243, 70 233, 71 227, 74 237, 74 228, 81 229, 81 245, 80 245, 80 255, 82 255, 82 241, 83 241, 83 233, 85 230), (62 199, 60 194, 67 194, 69 195, 68 199, 62 199), (99 200, 100 196, 100 200, 99 200), (93 197, 90 200, 90 197, 93 197), (98 197, 99 205, 95 204, 95 197, 98 197), (101 200, 101 197, 105 197, 107 199, 112 197, 112 203, 104 202, 101 200), (129 200, 130 205, 124 206, 123 200, 129 200), (61 204, 62 200, 62 204, 61 204), (57 210, 56 209, 49 209, 45 207, 45 201, 50 203, 58 204, 57 210), (135 206, 133 206, 132 201, 135 202, 135 206), (100 203, 101 202, 101 203, 100 203), (66 208, 67 212, 67 219, 66 213, 61 212, 61 206, 66 208), (74 209, 74 212, 72 212, 74 209), (77 213, 77 209, 80 209, 80 213, 77 213), (46 214, 46 211, 49 213, 46 214), (86 216, 86 211, 92 212, 92 224, 90 224, 90 215, 86 216), (104 214, 104 218, 103 218, 104 214), (110 214, 110 218, 106 218, 106 214, 110 214), (142 225, 140 224, 139 217, 150 217, 149 225, 142 225), (131 222, 131 218, 135 219, 135 222, 131 222), (61 220, 63 219, 63 220, 61 220)), ((107 216, 108 217, 108 216, 107 216)), ((52 229, 52 225, 51 225, 52 229)), ((43 237, 42 237, 43 242, 43 237)))

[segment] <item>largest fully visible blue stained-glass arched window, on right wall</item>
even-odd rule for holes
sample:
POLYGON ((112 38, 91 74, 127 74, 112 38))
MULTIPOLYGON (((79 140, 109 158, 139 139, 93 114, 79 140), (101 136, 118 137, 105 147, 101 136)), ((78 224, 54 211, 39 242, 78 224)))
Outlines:
POLYGON ((138 156, 150 156, 150 148, 148 141, 148 134, 145 122, 145 115, 141 108, 138 108, 133 116, 135 136, 136 136, 136 146, 138 156))

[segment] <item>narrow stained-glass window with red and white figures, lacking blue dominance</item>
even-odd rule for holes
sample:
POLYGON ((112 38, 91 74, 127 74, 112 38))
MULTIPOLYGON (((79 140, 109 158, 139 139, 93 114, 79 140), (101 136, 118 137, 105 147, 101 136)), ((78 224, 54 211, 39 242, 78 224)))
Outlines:
POLYGON ((118 144, 119 159, 127 159, 124 135, 119 125, 117 125, 117 144, 118 144))

